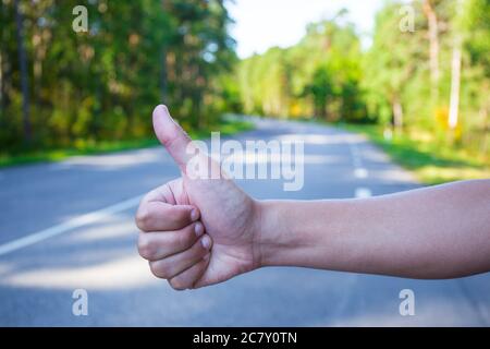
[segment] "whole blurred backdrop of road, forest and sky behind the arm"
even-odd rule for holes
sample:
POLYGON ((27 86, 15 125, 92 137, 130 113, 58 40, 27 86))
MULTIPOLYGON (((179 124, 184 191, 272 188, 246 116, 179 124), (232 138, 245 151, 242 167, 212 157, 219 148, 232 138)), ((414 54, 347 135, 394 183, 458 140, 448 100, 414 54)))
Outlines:
POLYGON ((132 222, 138 195, 179 174, 152 147, 159 103, 194 137, 305 141, 305 189, 241 183, 258 197, 489 178, 490 1, 0 0, 0 324, 490 324, 485 276, 406 281, 429 304, 417 320, 393 278, 272 269, 175 293, 146 277, 132 222), (73 317, 77 286, 99 317, 73 317))

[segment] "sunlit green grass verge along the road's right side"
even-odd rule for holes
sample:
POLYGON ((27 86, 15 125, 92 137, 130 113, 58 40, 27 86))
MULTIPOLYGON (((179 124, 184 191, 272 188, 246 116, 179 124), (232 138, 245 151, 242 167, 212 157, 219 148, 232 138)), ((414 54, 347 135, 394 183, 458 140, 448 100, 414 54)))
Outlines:
POLYGON ((444 146, 430 134, 419 136, 383 136, 380 125, 342 124, 341 128, 365 134, 382 148, 393 161, 412 171, 425 184, 440 184, 455 180, 490 178, 490 159, 468 149, 444 146))

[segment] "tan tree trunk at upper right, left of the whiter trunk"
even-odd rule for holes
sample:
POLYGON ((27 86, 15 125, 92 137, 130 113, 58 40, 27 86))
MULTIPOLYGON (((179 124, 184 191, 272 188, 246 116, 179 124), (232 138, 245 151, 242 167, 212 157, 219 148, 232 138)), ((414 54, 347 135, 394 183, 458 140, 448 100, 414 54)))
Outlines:
POLYGON ((430 0, 424 1, 424 13, 429 24, 429 65, 431 81, 431 97, 437 103, 439 98, 439 24, 438 16, 430 0))

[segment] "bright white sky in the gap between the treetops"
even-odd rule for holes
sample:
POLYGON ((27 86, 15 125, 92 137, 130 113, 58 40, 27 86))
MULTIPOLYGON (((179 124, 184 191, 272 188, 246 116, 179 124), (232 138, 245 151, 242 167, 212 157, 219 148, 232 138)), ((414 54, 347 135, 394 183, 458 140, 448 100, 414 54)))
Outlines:
MULTIPOLYGON (((273 46, 295 45, 306 33, 306 25, 348 10, 348 19, 359 33, 369 34, 375 14, 383 0, 235 0, 228 8, 236 22, 232 36, 240 58, 264 53, 273 46)), ((363 45, 369 45, 368 35, 363 45)))

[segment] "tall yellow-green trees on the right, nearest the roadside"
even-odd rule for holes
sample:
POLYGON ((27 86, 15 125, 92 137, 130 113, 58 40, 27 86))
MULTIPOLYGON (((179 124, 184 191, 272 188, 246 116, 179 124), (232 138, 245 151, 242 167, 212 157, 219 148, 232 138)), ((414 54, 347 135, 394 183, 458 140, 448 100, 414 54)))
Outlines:
POLYGON ((434 144, 464 146, 488 158, 490 142, 490 1, 412 1, 414 31, 403 33, 399 23, 403 3, 387 2, 378 13, 373 43, 364 58, 363 86, 369 115, 393 124, 396 107, 402 127, 430 131, 434 144), (429 23, 424 5, 437 16, 439 79, 431 80, 429 23), (454 50, 462 46, 458 122, 450 130, 450 97, 454 50))

